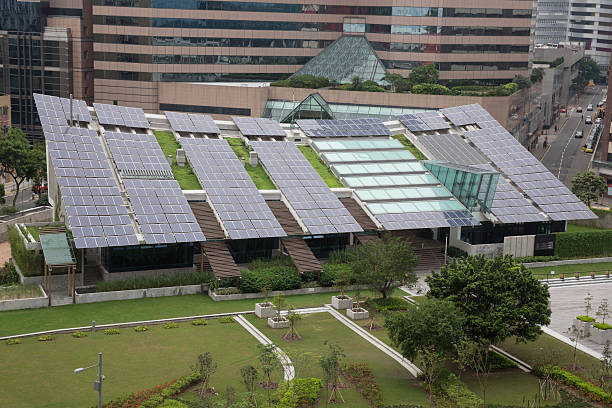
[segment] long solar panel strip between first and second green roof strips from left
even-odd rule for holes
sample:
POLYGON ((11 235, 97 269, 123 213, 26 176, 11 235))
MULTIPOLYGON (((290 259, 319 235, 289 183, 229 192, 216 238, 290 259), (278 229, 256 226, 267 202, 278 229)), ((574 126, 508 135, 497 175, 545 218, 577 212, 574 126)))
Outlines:
POLYGON ((286 236, 225 139, 181 138, 180 143, 230 238, 286 236))

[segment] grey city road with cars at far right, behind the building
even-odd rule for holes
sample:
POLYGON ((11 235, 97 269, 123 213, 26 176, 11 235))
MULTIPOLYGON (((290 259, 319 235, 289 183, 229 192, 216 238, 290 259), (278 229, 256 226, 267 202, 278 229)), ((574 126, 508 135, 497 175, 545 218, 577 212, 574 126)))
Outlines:
MULTIPOLYGON (((576 112, 576 106, 568 107, 568 116, 561 114, 557 120, 557 134, 547 135, 550 149, 542 158, 542 164, 548 168, 555 176, 559 177, 566 186, 571 187, 572 177, 587 169, 591 153, 582 151, 582 146, 591 131, 592 125, 585 125, 582 115, 593 116, 597 110, 597 103, 603 98, 605 88, 596 86, 588 88, 587 92, 579 99, 579 105, 584 111, 576 112), (593 112, 587 112, 588 104, 593 105, 593 112), (584 137, 576 139, 574 134, 577 130, 582 130, 584 137)), ((552 129, 551 129, 552 130, 552 129)))

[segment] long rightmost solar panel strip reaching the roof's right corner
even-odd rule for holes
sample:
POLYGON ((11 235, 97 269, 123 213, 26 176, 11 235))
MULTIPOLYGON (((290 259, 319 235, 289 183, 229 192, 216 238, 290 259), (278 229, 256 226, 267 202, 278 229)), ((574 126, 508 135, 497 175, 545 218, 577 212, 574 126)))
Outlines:
POLYGON ((596 217, 503 127, 473 130, 465 136, 552 220, 596 217))

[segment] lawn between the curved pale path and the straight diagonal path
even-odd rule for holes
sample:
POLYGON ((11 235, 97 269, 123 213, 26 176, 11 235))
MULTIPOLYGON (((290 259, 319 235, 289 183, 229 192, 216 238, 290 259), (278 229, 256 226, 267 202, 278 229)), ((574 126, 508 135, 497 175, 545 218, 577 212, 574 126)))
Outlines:
MULTIPOLYGON (((324 377, 323 370, 319 366, 319 357, 327 352, 324 342, 328 341, 344 349, 346 362, 364 362, 372 369, 374 378, 382 390, 385 405, 402 403, 428 405, 427 397, 418 380, 396 361, 352 332, 329 313, 304 315, 296 326, 297 332, 302 336, 302 340, 298 341, 285 341, 280 338, 287 329, 270 329, 263 319, 257 319, 255 316, 249 316, 248 319, 296 361, 298 376, 324 377)), ((342 395, 347 406, 368 406, 354 389, 343 389, 342 395)))

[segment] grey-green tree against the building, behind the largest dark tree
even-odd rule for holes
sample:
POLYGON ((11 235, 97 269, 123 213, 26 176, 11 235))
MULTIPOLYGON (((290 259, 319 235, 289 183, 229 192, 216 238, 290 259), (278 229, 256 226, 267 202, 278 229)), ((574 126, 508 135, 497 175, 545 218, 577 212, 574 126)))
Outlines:
POLYGON ((383 299, 396 282, 414 283, 417 256, 409 241, 385 234, 375 242, 358 245, 351 262, 358 283, 379 291, 383 299))

